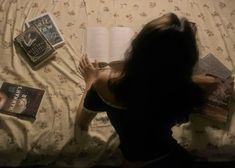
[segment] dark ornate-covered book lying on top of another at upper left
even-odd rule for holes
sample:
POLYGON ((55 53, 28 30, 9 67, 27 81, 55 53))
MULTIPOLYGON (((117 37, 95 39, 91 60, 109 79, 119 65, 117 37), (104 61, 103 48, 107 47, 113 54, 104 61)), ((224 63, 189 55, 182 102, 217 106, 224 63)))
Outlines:
POLYGON ((34 68, 46 62, 55 52, 54 47, 35 25, 29 27, 17 36, 15 43, 23 49, 27 61, 34 68))

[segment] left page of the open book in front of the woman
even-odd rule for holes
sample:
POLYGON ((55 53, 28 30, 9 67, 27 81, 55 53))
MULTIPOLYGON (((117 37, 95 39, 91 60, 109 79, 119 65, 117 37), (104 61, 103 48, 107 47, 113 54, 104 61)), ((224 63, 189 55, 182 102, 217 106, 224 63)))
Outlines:
POLYGON ((109 31, 105 27, 87 28, 86 53, 91 61, 108 62, 109 31))

